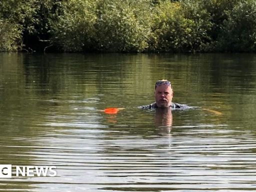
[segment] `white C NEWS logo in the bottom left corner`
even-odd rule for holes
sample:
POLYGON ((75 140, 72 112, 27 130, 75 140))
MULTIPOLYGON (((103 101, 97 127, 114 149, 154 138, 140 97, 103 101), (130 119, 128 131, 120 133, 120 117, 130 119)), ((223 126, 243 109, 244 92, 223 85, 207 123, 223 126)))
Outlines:
POLYGON ((15 176, 56 176, 56 166, 13 166, 0 164, 0 178, 11 178, 12 171, 15 176), (13 170, 14 167, 14 170, 13 170))

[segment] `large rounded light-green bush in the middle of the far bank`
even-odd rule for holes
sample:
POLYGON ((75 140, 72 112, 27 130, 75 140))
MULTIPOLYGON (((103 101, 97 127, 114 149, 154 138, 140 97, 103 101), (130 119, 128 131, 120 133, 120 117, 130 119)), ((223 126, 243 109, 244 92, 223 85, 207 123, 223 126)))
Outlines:
POLYGON ((151 9, 149 0, 102 0, 95 25, 98 48, 145 50, 150 36, 151 9))

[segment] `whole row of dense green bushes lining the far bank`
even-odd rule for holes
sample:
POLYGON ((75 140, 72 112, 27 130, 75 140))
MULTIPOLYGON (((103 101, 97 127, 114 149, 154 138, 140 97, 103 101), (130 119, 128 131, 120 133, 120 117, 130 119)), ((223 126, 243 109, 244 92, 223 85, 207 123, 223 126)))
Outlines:
POLYGON ((0 0, 0 51, 256 51, 255 0, 0 0))

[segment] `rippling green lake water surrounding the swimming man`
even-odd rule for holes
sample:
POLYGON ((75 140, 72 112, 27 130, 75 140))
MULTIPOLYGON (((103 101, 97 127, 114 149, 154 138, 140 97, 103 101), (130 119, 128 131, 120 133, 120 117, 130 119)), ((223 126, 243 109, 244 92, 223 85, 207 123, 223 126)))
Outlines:
POLYGON ((255 119, 256 54, 0 53, 0 164, 57 172, 0 191, 253 191, 255 119))

